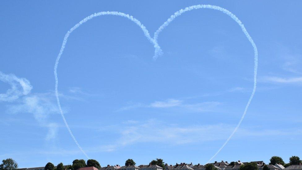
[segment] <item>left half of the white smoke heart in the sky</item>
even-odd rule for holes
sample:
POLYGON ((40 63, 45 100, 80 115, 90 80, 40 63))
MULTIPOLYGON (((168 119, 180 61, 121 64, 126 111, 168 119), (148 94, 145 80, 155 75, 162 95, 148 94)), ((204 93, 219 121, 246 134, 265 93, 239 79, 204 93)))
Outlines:
MULTIPOLYGON (((65 126, 69 132, 69 134, 71 135, 72 139, 75 141, 76 145, 79 147, 79 149, 83 152, 83 154, 89 159, 88 155, 85 153, 85 151, 83 150, 83 148, 80 146, 80 144, 78 143, 78 141, 76 140, 76 138, 74 137, 73 133, 71 132, 68 124, 67 124, 67 121, 65 119, 65 116, 63 114, 63 111, 62 111, 62 107, 61 107, 61 104, 60 104, 60 99, 59 99, 59 95, 58 95, 58 73, 57 73, 57 68, 58 68, 58 64, 59 64, 59 60, 61 58, 61 55, 63 54, 63 51, 64 51, 64 48, 65 48, 65 45, 67 43, 67 40, 68 40, 68 37, 69 35, 78 27, 80 27, 80 25, 84 24, 85 22, 87 22, 88 20, 91 20, 93 19, 94 17, 97 17, 97 16, 102 16, 102 15, 117 15, 117 16, 122 16, 122 17, 125 17, 131 21, 133 21, 135 24, 137 24, 141 29, 142 31, 144 32, 145 36, 147 37, 147 39, 153 43, 154 45, 154 48, 158 49, 158 51, 161 51, 160 50, 160 47, 158 46, 157 43, 155 43, 155 41, 153 41, 153 38, 151 38, 148 30, 146 29, 146 27, 141 24, 141 22, 139 20, 137 20, 136 18, 134 18, 133 16, 131 15, 128 15, 128 14, 124 14, 122 12, 117 12, 117 11, 105 11, 105 12, 98 12, 98 13, 94 13, 92 15, 89 15, 87 16, 86 18, 84 18, 83 20, 81 20, 79 23, 77 23, 75 26, 73 26, 72 28, 70 28, 69 31, 67 31, 67 33, 65 34, 65 37, 64 37, 64 40, 63 40, 63 43, 62 43, 62 46, 61 46, 61 49, 60 49, 60 52, 57 56, 57 59, 56 59, 56 63, 54 65, 54 78, 56 80, 56 83, 55 83, 55 95, 56 95, 56 98, 57 98, 57 104, 58 104, 58 107, 59 107, 59 110, 60 110, 60 113, 61 113, 61 116, 63 118, 63 121, 65 123, 65 126)), ((160 53, 160 52, 159 52, 160 53)))

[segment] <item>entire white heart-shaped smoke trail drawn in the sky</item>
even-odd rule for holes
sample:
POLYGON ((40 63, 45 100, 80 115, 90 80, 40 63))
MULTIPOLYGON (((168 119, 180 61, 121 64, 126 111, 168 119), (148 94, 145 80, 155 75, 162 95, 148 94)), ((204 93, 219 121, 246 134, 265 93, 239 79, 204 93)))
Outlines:
MULTIPOLYGON (((184 12, 187 11, 191 11, 191 10, 195 10, 195 9, 202 9, 202 8, 207 8, 207 9, 213 9, 213 10, 218 10, 221 11, 223 13, 225 13, 226 15, 229 15, 233 20, 235 20, 237 22, 237 24, 239 24, 239 26, 241 27, 243 33, 245 34, 245 36, 248 38, 248 41, 250 41, 250 43, 252 44, 253 48, 254 48, 254 85, 253 85, 253 91, 252 94, 250 96, 250 98, 248 99, 248 103, 245 106, 243 115, 241 116, 241 119, 239 120, 237 126, 235 127, 235 129, 233 130, 233 132, 231 133, 231 135, 226 139, 226 142, 223 143, 223 145, 218 149, 218 151, 211 157, 211 159, 209 159, 209 161, 211 161, 219 152, 220 150, 222 150, 222 148, 227 144, 227 142, 231 139, 231 137, 234 135, 234 133, 237 131, 237 129, 239 128, 242 120, 244 119, 244 116, 246 114, 246 111, 248 110, 248 106, 252 101, 252 98, 255 94, 256 91, 256 84, 257 84, 257 68, 258 68, 258 51, 257 51, 257 47, 256 44, 254 43, 254 41, 252 40, 252 37, 248 34, 247 30, 245 29, 244 25, 242 24, 242 22, 234 15, 232 14, 230 11, 222 8, 222 7, 218 7, 218 6, 214 6, 214 5, 194 5, 194 6, 190 6, 190 7, 186 7, 184 9, 181 9, 177 12, 174 13, 174 15, 171 15, 170 18, 164 23, 162 24, 157 31, 154 33, 154 37, 151 38, 149 31, 146 29, 146 27, 141 24, 141 22, 139 20, 137 20, 136 18, 134 18, 131 15, 128 14, 124 14, 122 12, 116 12, 116 11, 106 11, 106 12, 98 12, 98 13, 94 13, 92 15, 89 15, 88 17, 84 18, 83 20, 81 20, 78 24, 76 24, 75 26, 73 26, 66 34, 60 49, 60 52, 58 54, 58 57, 56 59, 56 63, 54 65, 54 77, 55 77, 55 95, 57 98, 57 103, 58 103, 58 107, 61 113, 61 116, 63 118, 63 121, 66 125, 66 128, 68 130, 68 132, 70 133, 71 137, 73 138, 73 140, 75 141, 76 145, 80 148, 80 150, 83 152, 83 154, 89 159, 88 155, 85 153, 85 151, 83 150, 83 148, 80 146, 80 144, 77 142, 76 138, 74 137, 74 135, 72 134, 66 119, 64 117, 62 108, 61 108, 61 104, 60 104, 60 100, 59 100, 59 96, 58 96, 58 73, 57 73, 57 68, 58 68, 58 63, 59 60, 63 54, 63 50, 65 48, 65 45, 67 43, 67 39, 69 37, 69 35, 76 29, 78 28, 80 25, 82 25, 83 23, 85 23, 88 20, 93 19, 94 17, 97 16, 102 16, 102 15, 117 15, 117 16, 122 16, 125 17, 131 21, 133 21, 134 23, 136 23, 144 32, 145 36, 148 38, 148 40, 153 43, 155 51, 154 51, 154 56, 153 59, 157 59, 157 57, 159 55, 162 54, 162 50, 160 48, 160 46, 157 43, 157 38, 158 38, 158 34, 164 29, 166 28, 166 26, 168 26, 170 24, 170 22, 172 22, 177 16, 181 15, 184 12)), ((209 163, 209 161, 207 163, 209 163)))

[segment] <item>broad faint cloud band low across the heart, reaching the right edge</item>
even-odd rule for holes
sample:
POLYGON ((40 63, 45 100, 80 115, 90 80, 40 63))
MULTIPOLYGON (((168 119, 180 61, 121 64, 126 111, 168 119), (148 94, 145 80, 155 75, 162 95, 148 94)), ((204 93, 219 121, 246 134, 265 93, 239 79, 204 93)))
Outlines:
MULTIPOLYGON (((150 119, 147 121, 137 121, 134 124, 110 127, 119 132, 118 142, 110 146, 101 146, 99 151, 114 151, 124 146, 135 145, 137 143, 153 142, 169 145, 182 145, 189 143, 199 143, 208 141, 225 140, 234 130, 235 124, 204 124, 180 126, 179 124, 163 123, 160 120, 150 119), (106 148, 106 149, 105 149, 106 148)), ((292 136, 302 134, 302 130, 297 129, 244 129, 240 128, 236 132, 237 139, 246 137, 267 137, 267 136, 292 136)), ((96 149, 96 148, 93 148, 96 149)), ((93 152, 93 150, 88 152, 93 152)), ((97 150, 94 150, 97 151, 97 150)))

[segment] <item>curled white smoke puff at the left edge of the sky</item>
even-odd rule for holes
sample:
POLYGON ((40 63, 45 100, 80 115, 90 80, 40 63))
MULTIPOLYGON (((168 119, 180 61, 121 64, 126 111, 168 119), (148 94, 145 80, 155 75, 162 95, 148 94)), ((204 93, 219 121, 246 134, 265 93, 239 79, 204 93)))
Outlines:
POLYGON ((11 85, 6 93, 0 94, 0 102, 12 102, 32 90, 32 85, 26 78, 19 78, 14 74, 4 74, 0 71, 0 81, 11 85))

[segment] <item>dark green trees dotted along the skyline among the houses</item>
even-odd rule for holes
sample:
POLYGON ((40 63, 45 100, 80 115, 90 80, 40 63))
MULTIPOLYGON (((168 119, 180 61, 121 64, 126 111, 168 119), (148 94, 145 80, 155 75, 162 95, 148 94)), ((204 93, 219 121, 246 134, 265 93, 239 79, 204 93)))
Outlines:
MULTIPOLYGON (((289 163, 284 163, 283 159, 279 156, 272 156, 270 159, 270 163, 272 165, 275 165, 276 163, 283 165, 284 167, 288 167, 290 165, 299 165, 300 163, 302 163, 302 160, 300 160, 300 158, 298 156, 291 156, 289 158, 289 163)), ((153 159, 150 164, 152 165, 158 165, 162 168, 166 168, 165 162, 163 161, 163 159, 153 159)), ((125 161, 125 166, 128 165, 136 165, 136 163, 134 162, 133 159, 127 159, 125 161)), ((229 165, 234 166, 235 162, 231 162, 229 165)), ((71 169, 71 170, 77 170, 79 168, 84 168, 84 167, 95 167, 100 169, 101 165, 100 163, 95 160, 95 159, 88 159, 87 162, 84 159, 75 159, 74 161, 72 161, 72 165, 63 165, 63 163, 59 163, 57 165, 57 167, 54 167, 54 164, 49 162, 45 165, 44 170, 65 170, 65 169, 71 169)), ((8 159, 4 159, 2 160, 2 164, 0 164, 0 170, 15 170, 18 169, 18 163, 11 158, 8 159)), ((205 169, 206 170, 217 170, 217 168, 215 168, 215 166, 211 163, 208 163, 205 165, 205 169)), ((246 163, 244 165, 241 165, 239 170, 258 170, 258 166, 256 163, 250 162, 250 163, 246 163)), ((263 170, 269 170, 269 168, 264 165, 263 170)))

